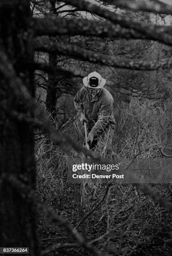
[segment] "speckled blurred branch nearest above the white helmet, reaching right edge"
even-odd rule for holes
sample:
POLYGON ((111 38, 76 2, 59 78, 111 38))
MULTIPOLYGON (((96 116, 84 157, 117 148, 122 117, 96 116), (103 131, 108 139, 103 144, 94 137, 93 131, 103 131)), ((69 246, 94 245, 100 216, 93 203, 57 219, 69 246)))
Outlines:
POLYGON ((58 44, 48 40, 43 41, 40 38, 35 39, 34 47, 36 51, 56 52, 57 54, 67 55, 75 59, 90 61, 108 67, 132 70, 157 70, 172 67, 172 57, 161 59, 161 61, 143 61, 137 59, 130 61, 117 56, 86 50, 75 45, 58 44))

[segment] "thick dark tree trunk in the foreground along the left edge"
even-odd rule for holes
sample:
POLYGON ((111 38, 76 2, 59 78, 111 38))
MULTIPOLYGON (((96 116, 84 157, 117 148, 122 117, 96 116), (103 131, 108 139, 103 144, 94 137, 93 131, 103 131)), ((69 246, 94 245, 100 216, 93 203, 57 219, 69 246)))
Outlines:
MULTIPOLYGON (((34 96, 33 72, 22 65, 33 61, 29 0, 6 0, 0 3, 0 57, 7 56, 6 67, 14 69, 34 96)), ((11 174, 35 189, 34 131, 31 125, 13 118, 12 111, 32 117, 21 95, 16 94, 17 82, 5 75, 0 63, 0 175, 11 174), (11 87, 15 83, 16 90, 11 87)), ((17 80, 16 80, 17 81, 17 80)), ((35 207, 18 194, 10 183, 0 181, 0 246, 29 247, 30 255, 40 255, 36 231, 35 207)))

